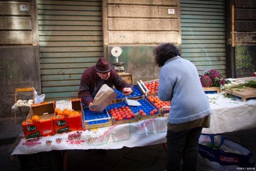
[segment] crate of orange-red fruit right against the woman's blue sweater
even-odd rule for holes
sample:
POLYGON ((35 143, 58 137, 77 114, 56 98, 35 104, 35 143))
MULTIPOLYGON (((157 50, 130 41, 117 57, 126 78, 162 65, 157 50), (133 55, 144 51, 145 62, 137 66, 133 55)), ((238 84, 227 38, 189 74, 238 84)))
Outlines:
POLYGON ((151 101, 158 109, 162 111, 163 116, 169 115, 170 101, 161 101, 158 96, 148 96, 148 100, 151 101))

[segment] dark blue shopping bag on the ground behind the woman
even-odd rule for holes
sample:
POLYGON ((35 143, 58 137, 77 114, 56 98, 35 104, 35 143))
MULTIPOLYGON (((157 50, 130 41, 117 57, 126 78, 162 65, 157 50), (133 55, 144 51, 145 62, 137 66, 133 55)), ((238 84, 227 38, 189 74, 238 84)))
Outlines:
POLYGON ((198 152, 202 157, 220 165, 254 167, 252 152, 222 135, 201 134, 198 152))

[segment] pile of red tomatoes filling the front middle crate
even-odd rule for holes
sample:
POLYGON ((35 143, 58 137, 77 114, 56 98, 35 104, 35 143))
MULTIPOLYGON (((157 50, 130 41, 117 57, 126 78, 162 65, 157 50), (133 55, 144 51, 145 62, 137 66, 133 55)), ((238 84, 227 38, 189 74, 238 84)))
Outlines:
POLYGON ((120 108, 111 108, 109 111, 112 115, 112 118, 115 118, 116 120, 131 120, 132 118, 134 118, 134 113, 128 106, 121 106, 120 108))

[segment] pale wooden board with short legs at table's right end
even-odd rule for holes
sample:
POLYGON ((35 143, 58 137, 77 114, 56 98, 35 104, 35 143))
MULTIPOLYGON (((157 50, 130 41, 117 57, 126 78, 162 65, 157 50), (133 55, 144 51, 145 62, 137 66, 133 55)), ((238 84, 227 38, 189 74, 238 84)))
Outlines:
POLYGON ((256 88, 252 87, 225 89, 225 92, 228 94, 233 94, 237 97, 241 97, 242 102, 244 102, 247 98, 256 97, 256 88))

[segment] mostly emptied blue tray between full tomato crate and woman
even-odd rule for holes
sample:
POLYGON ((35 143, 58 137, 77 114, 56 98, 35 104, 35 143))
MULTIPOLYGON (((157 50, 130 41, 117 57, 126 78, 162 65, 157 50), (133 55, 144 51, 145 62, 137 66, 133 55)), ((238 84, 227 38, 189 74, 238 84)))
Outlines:
POLYGON ((140 111, 140 109, 142 109, 144 111, 144 113, 147 114, 147 116, 151 116, 149 113, 153 110, 156 109, 157 113, 159 114, 159 109, 157 107, 154 107, 154 105, 150 104, 150 102, 147 99, 140 99, 138 100, 138 102, 140 102, 141 106, 130 106, 131 110, 134 113, 137 113, 140 111))

